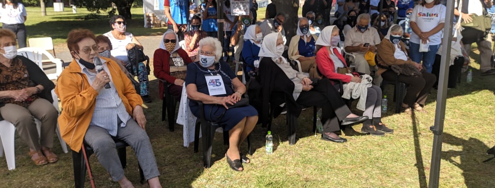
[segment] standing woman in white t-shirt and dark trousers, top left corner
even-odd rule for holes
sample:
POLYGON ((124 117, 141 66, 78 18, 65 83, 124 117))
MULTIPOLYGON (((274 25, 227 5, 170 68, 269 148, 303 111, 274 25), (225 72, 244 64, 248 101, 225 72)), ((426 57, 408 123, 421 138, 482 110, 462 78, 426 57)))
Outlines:
POLYGON ((0 22, 3 29, 11 30, 17 35, 19 48, 26 47, 26 8, 17 0, 1 0, 0 22))

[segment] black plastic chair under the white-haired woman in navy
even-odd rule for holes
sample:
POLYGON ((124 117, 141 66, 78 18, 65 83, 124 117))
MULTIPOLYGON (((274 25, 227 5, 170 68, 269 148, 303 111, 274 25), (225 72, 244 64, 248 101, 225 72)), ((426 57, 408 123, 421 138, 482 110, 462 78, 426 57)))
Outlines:
MULTIPOLYGON (((190 99, 192 100, 192 99, 190 99)), ((203 166, 204 168, 211 167, 211 148, 213 144, 213 137, 215 136, 215 130, 220 127, 219 124, 206 121, 204 116, 204 105, 201 101, 196 101, 199 105, 199 122, 196 123, 194 134, 194 152, 198 152, 199 145, 199 127, 201 127, 202 143, 203 143, 203 166)), ((251 141, 249 141, 249 135, 247 136, 247 153, 252 155, 251 141)), ((229 133, 223 132, 223 143, 229 145, 229 133)))

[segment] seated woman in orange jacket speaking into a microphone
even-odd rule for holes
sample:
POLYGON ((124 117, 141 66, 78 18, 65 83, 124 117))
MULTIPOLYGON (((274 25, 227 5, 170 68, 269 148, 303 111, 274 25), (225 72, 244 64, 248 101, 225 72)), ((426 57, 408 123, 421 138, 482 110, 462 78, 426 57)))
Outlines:
POLYGON ((67 47, 73 60, 58 77, 55 88, 63 108, 58 117, 62 138, 76 152, 84 147, 83 142, 91 146, 112 180, 121 187, 132 187, 124 176, 114 139, 125 141, 135 151, 149 187, 161 188, 145 131, 143 100, 131 81, 115 61, 99 57, 90 30, 70 31, 67 47))

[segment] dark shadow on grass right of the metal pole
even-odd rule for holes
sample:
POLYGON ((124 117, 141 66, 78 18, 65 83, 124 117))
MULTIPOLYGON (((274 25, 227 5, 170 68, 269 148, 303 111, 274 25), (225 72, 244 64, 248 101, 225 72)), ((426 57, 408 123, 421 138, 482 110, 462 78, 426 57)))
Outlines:
POLYGON ((493 188, 495 187, 494 161, 483 163, 488 156, 488 145, 476 138, 467 140, 444 133, 443 142, 451 145, 462 146, 462 150, 442 151, 442 159, 462 170, 464 183, 467 188, 493 188), (454 158, 460 157, 460 163, 454 158))

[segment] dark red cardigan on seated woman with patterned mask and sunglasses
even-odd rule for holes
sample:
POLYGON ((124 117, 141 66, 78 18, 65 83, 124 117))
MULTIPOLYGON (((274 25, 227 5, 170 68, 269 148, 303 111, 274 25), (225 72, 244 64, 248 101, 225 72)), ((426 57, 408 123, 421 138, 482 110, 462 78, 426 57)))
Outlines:
MULTIPOLYGON (((184 60, 184 63, 187 65, 192 62, 191 58, 189 58, 189 55, 187 54, 184 49, 179 48, 177 50, 179 53, 179 56, 182 57, 184 60)), ((167 83, 173 84, 175 77, 170 76, 170 53, 167 50, 158 48, 155 50, 153 54, 153 74, 155 75, 156 78, 162 79, 167 81, 167 83)), ((163 83, 161 81, 158 81, 158 91, 160 94, 160 98, 163 99, 163 83)))

